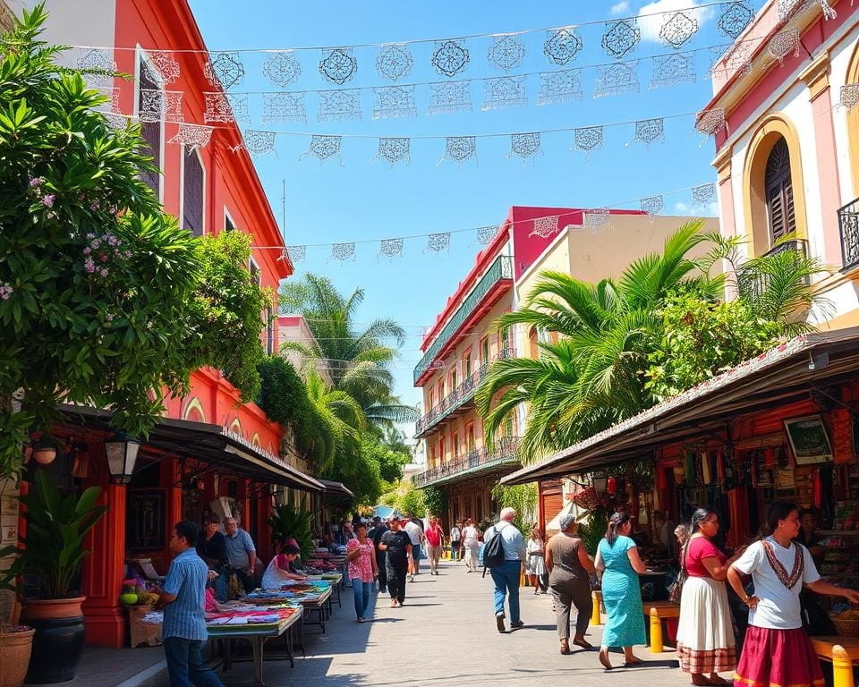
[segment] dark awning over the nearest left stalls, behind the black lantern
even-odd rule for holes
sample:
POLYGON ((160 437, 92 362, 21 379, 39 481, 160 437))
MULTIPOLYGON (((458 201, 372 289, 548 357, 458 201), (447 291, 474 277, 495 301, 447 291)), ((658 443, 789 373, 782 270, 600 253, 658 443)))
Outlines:
MULTIPOLYGON (((101 429, 108 428, 111 417, 110 411, 88 406, 61 404, 59 410, 69 421, 101 429)), ((303 491, 324 490, 317 479, 296 470, 279 456, 227 428, 208 422, 163 418, 149 432, 149 438, 143 443, 144 450, 146 446, 225 468, 264 484, 303 491)))

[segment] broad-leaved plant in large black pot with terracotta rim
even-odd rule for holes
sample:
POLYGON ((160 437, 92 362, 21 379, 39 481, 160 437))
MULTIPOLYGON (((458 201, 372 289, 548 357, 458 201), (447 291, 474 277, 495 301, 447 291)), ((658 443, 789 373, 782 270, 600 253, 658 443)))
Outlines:
POLYGON ((13 570, 28 576, 38 593, 23 598, 22 619, 36 630, 30 657, 30 683, 72 680, 81 660, 86 630, 83 626, 79 580, 81 563, 89 551, 84 538, 107 508, 96 505, 101 488, 90 487, 79 496, 61 494, 44 471, 36 486, 19 500, 25 506, 27 536, 13 570))

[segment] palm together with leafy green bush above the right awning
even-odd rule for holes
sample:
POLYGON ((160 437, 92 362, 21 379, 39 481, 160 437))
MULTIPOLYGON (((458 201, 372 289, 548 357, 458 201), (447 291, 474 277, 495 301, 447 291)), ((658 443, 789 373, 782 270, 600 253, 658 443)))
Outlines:
POLYGON ((489 436, 527 403, 520 453, 532 461, 809 327, 802 315, 818 305, 809 285, 817 260, 783 250, 741 262, 737 240, 701 227, 681 226, 617 280, 542 273, 522 310, 497 325, 557 336, 540 342, 537 360, 493 363, 476 396, 489 436), (720 260, 729 269, 712 276, 720 260), (735 301, 721 302, 726 287, 735 301))

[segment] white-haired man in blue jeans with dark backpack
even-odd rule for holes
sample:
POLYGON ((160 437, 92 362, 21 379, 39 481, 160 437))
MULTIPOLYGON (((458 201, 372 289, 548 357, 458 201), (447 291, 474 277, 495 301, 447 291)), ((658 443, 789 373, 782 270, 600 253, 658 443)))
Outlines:
POLYGON ((504 599, 510 606, 510 629, 524 627, 519 617, 519 578, 525 570, 525 539, 513 521, 516 512, 504 508, 498 522, 483 533, 483 574, 486 568, 495 582, 495 623, 498 632, 505 632, 504 599))

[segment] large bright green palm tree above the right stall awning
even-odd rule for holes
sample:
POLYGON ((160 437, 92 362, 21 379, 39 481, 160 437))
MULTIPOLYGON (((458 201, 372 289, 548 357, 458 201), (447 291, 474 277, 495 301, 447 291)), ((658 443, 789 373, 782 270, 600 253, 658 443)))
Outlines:
MULTIPOLYGON (((517 406, 529 406, 520 453, 529 462, 608 428, 654 403, 645 387, 648 354, 659 341, 659 309, 678 291, 718 301, 729 279, 760 318, 778 321, 782 335, 809 327, 797 311, 815 302, 809 277, 821 271, 795 251, 749 260, 733 276, 710 276, 717 260, 736 259, 737 244, 701 233, 702 222, 681 226, 660 254, 635 260, 616 281, 589 284, 558 272, 542 273, 523 309, 498 318, 556 332, 538 344, 540 358, 499 360, 476 394, 484 430, 492 437, 517 406), (690 257, 704 242, 701 258, 690 257), (761 289, 760 284, 768 284, 761 289)), ((739 265, 738 260, 735 261, 739 265)))

